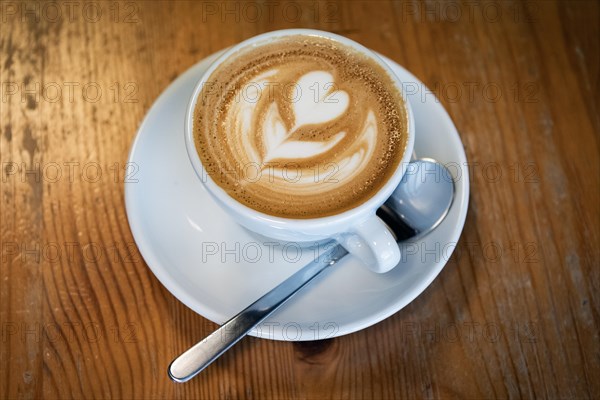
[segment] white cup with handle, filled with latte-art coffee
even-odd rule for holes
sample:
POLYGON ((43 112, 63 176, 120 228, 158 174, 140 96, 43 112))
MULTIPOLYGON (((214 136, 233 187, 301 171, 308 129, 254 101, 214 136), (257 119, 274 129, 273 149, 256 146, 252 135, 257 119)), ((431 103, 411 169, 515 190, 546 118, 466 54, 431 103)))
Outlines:
POLYGON ((375 212, 406 172, 414 138, 385 62, 309 29, 226 50, 197 83, 185 120, 197 176, 237 223, 277 240, 334 239, 380 273, 400 250, 375 212))

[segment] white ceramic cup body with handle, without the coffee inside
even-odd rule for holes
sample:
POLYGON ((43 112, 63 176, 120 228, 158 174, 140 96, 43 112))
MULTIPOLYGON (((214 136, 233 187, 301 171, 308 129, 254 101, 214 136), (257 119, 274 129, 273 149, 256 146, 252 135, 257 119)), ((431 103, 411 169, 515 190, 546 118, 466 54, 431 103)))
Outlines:
POLYGON ((185 143, 187 152, 196 174, 215 201, 223 207, 236 222, 247 229, 261 235, 278 240, 293 242, 320 242, 325 239, 335 239, 352 255, 375 272, 387 272, 400 262, 400 249, 386 225, 375 215, 376 210, 391 196, 406 172, 415 142, 415 128, 412 110, 408 99, 402 92, 402 84, 392 70, 372 51, 366 47, 333 33, 312 29, 286 29, 268 32, 245 40, 225 51, 208 68, 206 73, 197 83, 188 104, 185 120, 185 143), (268 215, 256 211, 239 203, 218 186, 205 170, 194 141, 194 109, 196 101, 212 72, 219 68, 224 60, 235 57, 240 49, 261 45, 265 42, 276 40, 289 35, 319 36, 336 40, 343 45, 352 47, 360 53, 367 55, 388 72, 395 82, 398 91, 404 98, 408 114, 408 139, 402 160, 396 167, 393 175, 383 187, 367 201, 350 210, 336 215, 312 218, 293 219, 268 215))

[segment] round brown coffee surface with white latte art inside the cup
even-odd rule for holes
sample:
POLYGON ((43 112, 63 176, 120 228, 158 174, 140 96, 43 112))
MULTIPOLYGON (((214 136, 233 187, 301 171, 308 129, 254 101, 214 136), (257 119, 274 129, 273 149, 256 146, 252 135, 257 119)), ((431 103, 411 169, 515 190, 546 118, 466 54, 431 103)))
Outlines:
POLYGON ((200 91, 193 129, 205 170, 238 202, 319 218, 359 206, 389 180, 408 116, 377 62, 332 39, 292 35, 219 65, 200 91))

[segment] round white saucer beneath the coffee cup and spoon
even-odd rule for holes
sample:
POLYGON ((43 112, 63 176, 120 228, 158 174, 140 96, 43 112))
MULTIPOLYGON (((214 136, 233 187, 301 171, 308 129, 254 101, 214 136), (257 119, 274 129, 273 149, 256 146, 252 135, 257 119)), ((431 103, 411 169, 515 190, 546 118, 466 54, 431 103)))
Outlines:
MULTIPOLYGON (((148 112, 129 155, 135 167, 125 184, 125 203, 135 241, 154 275, 192 310, 222 324, 308 263, 313 251, 298 253, 294 246, 284 251, 285 243, 265 244, 273 241, 241 228, 213 202, 192 169, 184 114, 195 83, 217 56, 177 78, 148 112)), ((407 94, 412 93, 415 152, 449 163, 455 174, 454 204, 436 230, 404 246, 403 260, 392 271, 372 273, 348 256, 273 314, 254 336, 315 340, 373 325, 423 292, 458 241, 469 199, 468 170, 459 168, 467 160, 458 132, 416 77, 382 58, 406 84, 407 94)))

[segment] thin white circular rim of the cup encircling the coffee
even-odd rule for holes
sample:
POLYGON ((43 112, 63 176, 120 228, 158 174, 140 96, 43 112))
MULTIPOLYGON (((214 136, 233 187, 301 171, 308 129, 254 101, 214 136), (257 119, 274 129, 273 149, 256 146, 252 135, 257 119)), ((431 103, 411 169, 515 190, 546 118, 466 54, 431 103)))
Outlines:
POLYGON ((406 169, 408 168, 408 163, 412 156, 414 142, 415 142, 415 126, 414 126, 414 116, 413 111, 406 97, 406 93, 403 90, 402 82, 396 76, 396 74, 392 71, 392 69, 386 64, 386 62, 379 57, 374 51, 368 49, 360 43, 357 43, 351 39, 348 39, 344 36, 317 30, 317 29, 281 29, 276 31, 270 31, 266 33, 262 33, 257 36, 253 36, 246 40, 243 40, 240 43, 237 43, 230 48, 226 49, 223 54, 221 54, 213 63, 208 67, 206 72, 202 75, 200 80, 196 83, 194 90, 192 92, 192 96, 188 101, 187 110, 185 114, 185 145, 188 153, 188 157, 194 169, 194 172, 200 179, 201 183, 206 187, 208 192, 217 197, 219 201, 223 202, 227 207, 233 209, 236 213, 242 215, 249 215, 253 219, 258 219, 269 223, 274 226, 288 226, 293 223, 298 226, 298 228, 302 227, 319 227, 319 226, 327 226, 332 223, 343 223, 345 221, 354 219, 357 215, 372 215, 375 213, 377 208, 381 206, 393 193, 396 187, 400 184, 400 181, 404 174, 406 173, 406 169), (270 215, 258 210, 255 210, 251 207, 246 206, 245 204, 240 203, 233 197, 231 197, 223 188, 217 185, 211 176, 208 174, 202 161, 200 160, 200 156, 198 151, 196 150, 196 143, 194 140, 194 111, 196 108, 196 103, 198 101, 198 96, 200 91, 202 90, 203 85, 206 83, 208 78, 212 75, 212 73, 231 55, 236 53, 242 48, 245 48, 249 45, 256 45, 267 40, 275 40, 277 38, 293 36, 293 35, 306 35, 306 36, 318 36, 325 37, 328 39, 336 40, 343 45, 352 47, 361 53, 367 55, 369 58, 373 59, 380 65, 389 75, 389 77, 396 84, 396 88, 398 89, 404 104, 405 110, 407 113, 407 134, 408 138, 406 141, 406 145, 404 148, 404 154, 402 155, 402 159, 398 163, 396 170, 392 174, 392 176, 385 182, 385 184, 371 197, 365 200, 363 203, 359 204, 356 207, 353 207, 349 210, 343 211, 338 214, 328 215, 325 217, 317 217, 317 218, 288 218, 288 217, 278 217, 274 215, 270 215))

